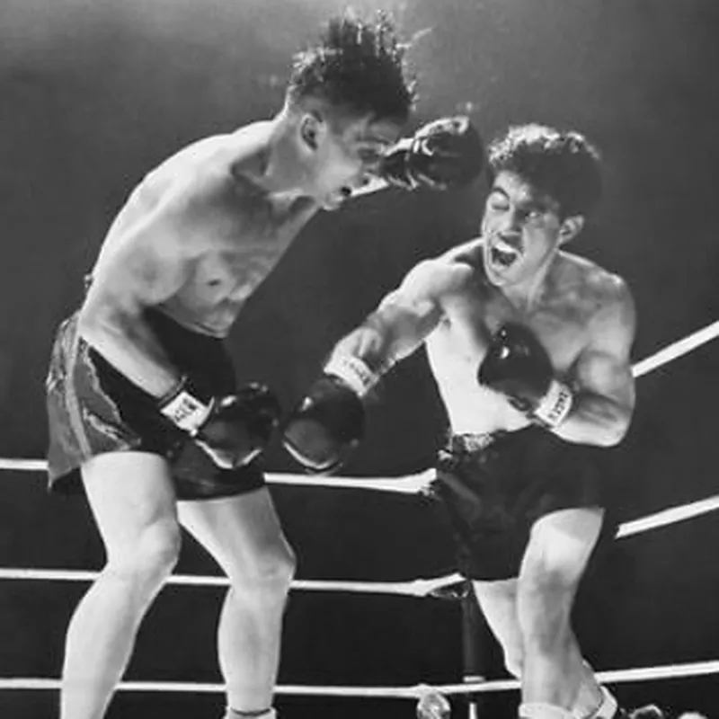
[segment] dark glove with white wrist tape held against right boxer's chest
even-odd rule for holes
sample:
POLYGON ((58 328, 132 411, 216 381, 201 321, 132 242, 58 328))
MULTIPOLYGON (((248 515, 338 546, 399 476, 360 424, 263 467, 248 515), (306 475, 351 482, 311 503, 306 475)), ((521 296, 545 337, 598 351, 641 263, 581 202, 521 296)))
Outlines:
POLYGON ((508 323, 493 336, 477 379, 506 395, 520 412, 554 428, 564 422, 573 403, 572 390, 554 374, 535 334, 522 324, 508 323))

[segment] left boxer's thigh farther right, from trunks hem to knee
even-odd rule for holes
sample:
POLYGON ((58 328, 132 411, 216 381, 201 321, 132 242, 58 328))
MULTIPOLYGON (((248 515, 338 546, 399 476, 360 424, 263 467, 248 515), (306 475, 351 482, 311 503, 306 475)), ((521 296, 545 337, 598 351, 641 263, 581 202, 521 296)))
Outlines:
POLYGON ((178 502, 178 514, 182 526, 230 577, 262 575, 268 565, 293 558, 267 487, 220 499, 178 502))

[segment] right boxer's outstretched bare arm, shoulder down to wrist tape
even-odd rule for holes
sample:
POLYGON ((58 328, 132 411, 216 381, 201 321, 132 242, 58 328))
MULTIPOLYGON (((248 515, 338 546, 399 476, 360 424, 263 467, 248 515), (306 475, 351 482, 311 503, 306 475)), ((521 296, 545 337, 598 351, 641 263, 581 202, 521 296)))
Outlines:
POLYGON ((462 268, 444 260, 420 262, 377 309, 334 347, 333 359, 361 359, 377 378, 412 354, 439 324, 442 303, 462 268))

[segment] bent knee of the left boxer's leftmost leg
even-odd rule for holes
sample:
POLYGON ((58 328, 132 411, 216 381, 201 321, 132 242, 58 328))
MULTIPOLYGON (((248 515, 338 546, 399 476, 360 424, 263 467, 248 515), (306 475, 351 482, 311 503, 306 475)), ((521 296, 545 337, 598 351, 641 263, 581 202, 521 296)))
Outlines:
POLYGON ((135 585, 154 588, 173 573, 181 544, 176 522, 157 522, 144 528, 127 546, 109 553, 105 571, 135 585))

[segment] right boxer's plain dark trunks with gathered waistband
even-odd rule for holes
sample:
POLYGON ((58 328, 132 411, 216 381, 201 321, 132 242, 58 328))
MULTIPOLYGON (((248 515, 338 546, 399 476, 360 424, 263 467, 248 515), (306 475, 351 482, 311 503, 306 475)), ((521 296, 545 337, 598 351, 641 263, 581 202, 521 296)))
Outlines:
MULTIPOLYGON (((440 500, 469 579, 518 576, 532 525, 557 510, 606 507, 602 448, 572 444, 531 426, 455 435, 437 457, 431 496, 440 500)), ((605 519, 602 536, 613 533, 605 519)))

